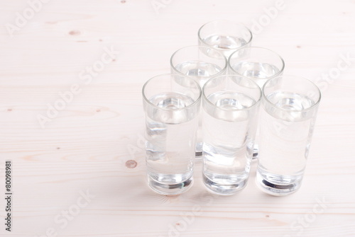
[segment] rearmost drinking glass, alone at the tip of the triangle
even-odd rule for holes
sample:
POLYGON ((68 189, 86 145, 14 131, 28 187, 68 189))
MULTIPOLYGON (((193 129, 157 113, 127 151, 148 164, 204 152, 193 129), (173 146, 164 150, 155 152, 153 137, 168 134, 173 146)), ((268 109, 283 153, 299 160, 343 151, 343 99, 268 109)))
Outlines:
POLYGON ((199 45, 213 47, 228 58, 232 52, 244 46, 251 46, 251 30, 233 21, 212 21, 198 31, 199 45))

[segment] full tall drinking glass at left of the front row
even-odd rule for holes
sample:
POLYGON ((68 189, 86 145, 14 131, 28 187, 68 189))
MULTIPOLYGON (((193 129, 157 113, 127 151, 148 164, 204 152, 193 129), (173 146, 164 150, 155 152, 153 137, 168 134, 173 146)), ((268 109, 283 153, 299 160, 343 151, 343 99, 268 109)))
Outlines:
POLYGON ((148 185, 178 195, 193 183, 201 88, 187 76, 163 74, 148 80, 142 93, 148 185))

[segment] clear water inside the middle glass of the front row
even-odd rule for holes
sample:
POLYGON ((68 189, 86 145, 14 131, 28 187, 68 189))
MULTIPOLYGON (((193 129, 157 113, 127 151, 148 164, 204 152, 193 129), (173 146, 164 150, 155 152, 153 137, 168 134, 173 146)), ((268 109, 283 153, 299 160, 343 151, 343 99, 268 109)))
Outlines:
MULTIPOLYGON (((226 110, 249 108, 256 101, 242 93, 224 91, 209 100, 226 110)), ((246 185, 253 154, 249 137, 249 111, 213 110, 204 106, 204 184, 214 192, 230 195, 246 185)))

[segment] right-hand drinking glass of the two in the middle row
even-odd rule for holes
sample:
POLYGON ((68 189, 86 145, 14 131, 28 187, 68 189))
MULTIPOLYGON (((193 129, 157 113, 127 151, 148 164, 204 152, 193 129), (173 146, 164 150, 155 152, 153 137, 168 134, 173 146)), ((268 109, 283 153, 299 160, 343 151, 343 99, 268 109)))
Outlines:
MULTIPOLYGON (((262 47, 243 47, 228 59, 228 73, 253 79, 260 88, 268 79, 283 74, 285 62, 279 54, 262 47)), ((258 158, 258 133, 253 158, 258 158)))

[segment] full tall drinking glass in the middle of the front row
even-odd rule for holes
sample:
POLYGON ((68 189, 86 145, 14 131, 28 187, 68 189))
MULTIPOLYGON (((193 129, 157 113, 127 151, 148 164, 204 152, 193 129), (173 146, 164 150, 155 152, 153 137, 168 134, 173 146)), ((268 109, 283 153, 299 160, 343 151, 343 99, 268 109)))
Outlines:
POLYGON ((233 195, 249 178, 261 89, 244 76, 224 75, 202 91, 203 183, 233 195))

